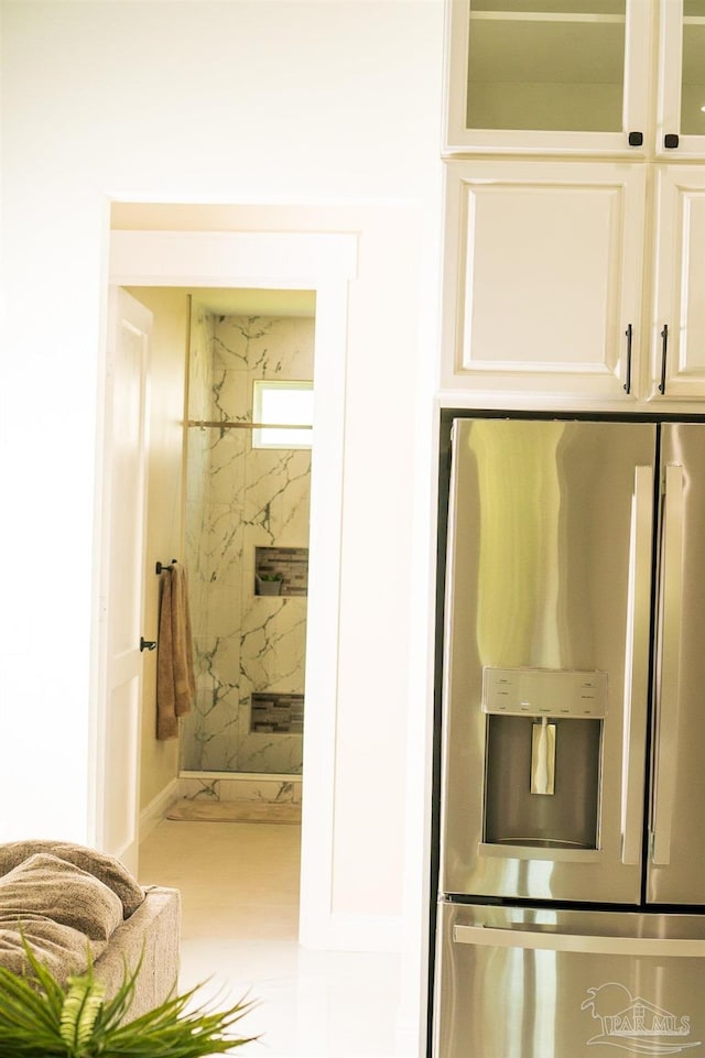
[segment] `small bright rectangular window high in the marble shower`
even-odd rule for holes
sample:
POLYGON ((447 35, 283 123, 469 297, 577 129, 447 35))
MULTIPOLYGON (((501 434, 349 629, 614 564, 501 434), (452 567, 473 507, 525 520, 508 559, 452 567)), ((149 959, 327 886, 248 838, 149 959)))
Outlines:
POLYGON ((313 382, 253 383, 252 448, 311 448, 313 382))

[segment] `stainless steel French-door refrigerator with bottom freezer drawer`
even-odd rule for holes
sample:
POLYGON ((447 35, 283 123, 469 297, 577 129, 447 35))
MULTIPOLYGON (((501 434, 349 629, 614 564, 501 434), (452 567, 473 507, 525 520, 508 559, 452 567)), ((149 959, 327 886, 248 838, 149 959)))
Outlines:
POLYGON ((705 1056, 705 425, 456 418, 434 1058, 705 1056))

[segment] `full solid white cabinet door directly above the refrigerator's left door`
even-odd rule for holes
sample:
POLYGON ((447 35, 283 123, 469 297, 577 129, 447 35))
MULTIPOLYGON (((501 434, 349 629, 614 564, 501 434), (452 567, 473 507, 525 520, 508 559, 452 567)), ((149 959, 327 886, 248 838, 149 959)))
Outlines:
POLYGON ((642 166, 453 163, 447 201, 444 384, 625 399, 642 166))

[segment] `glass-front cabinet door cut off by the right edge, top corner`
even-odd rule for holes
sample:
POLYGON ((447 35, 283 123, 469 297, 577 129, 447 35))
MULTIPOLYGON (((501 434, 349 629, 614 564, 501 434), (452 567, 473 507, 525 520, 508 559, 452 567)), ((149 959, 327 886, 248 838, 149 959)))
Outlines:
POLYGON ((662 0, 655 152, 705 155, 705 0, 662 0))

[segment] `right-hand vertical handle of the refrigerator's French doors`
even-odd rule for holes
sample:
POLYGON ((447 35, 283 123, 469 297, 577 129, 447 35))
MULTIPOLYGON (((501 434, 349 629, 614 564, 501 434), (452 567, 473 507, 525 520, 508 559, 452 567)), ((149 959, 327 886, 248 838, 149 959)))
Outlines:
POLYGON ((661 678, 655 746, 651 861, 671 860, 671 825, 675 798, 673 766, 677 750, 681 666, 681 598, 683 588, 683 467, 665 468, 661 580, 661 678))

